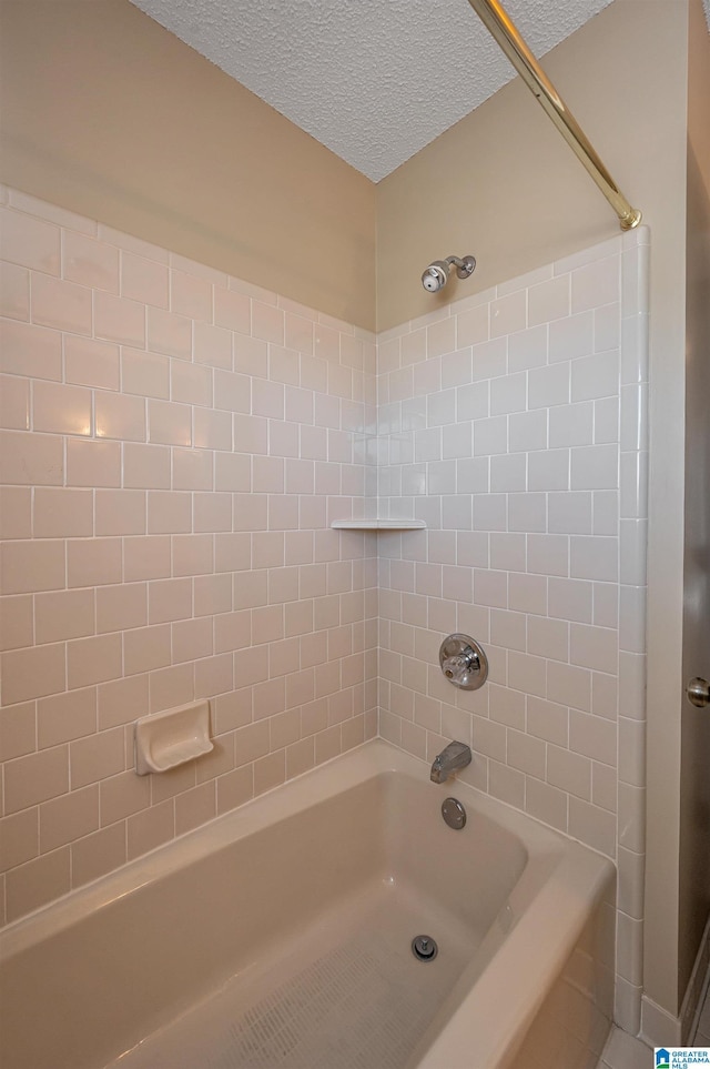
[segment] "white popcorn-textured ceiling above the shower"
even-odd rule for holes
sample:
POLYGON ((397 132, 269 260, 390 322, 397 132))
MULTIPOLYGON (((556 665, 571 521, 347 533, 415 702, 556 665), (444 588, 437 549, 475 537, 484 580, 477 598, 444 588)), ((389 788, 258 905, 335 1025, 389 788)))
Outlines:
MULTIPOLYGON (((467 0, 132 2, 375 182, 515 74, 467 0)), ((539 57, 609 2, 505 6, 539 57)))

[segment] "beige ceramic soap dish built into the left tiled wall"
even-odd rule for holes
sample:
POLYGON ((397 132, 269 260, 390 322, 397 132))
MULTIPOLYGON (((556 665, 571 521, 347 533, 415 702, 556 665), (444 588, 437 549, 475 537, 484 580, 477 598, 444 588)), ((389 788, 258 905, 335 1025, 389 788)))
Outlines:
POLYGON ((214 749, 210 739, 210 703, 192 702, 135 722, 135 770, 139 776, 168 772, 214 749))

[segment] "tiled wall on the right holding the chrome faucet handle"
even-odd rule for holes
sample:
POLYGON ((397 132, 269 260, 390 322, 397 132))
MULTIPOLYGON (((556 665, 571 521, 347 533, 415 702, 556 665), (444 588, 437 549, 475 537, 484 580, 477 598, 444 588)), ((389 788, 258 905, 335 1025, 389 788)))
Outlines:
MULTIPOLYGON (((648 232, 378 339, 381 734, 619 868, 617 1020, 639 1023, 648 232), (457 690, 438 649, 483 644, 457 690)), ((460 290, 465 284, 462 283, 460 290)))

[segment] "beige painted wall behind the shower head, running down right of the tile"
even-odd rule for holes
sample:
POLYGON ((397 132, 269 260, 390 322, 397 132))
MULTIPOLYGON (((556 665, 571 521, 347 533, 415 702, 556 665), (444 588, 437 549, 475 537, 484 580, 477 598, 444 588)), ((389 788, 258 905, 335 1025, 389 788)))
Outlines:
MULTIPOLYGON (((649 873, 645 985, 674 1015, 678 981, 684 455, 687 0, 615 0, 544 67, 651 229, 649 873), (670 859, 670 860, 669 860, 670 859)), ((473 253, 456 300, 618 233, 616 215, 519 79, 385 179, 378 329, 437 306, 432 259, 473 253), (403 265, 404 269, 403 270, 403 265)))

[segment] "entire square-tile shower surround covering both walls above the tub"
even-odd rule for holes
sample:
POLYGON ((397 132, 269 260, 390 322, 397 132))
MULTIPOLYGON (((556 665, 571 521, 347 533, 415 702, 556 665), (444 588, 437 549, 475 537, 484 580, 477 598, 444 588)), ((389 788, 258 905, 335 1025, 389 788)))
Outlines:
POLYGON ((2 215, 4 918, 377 730, 455 737, 462 778, 617 863, 635 1032, 647 232, 375 339, 16 191, 2 215), (376 514, 427 530, 329 528, 376 514), (133 720, 201 696, 214 754, 136 777, 133 720))

